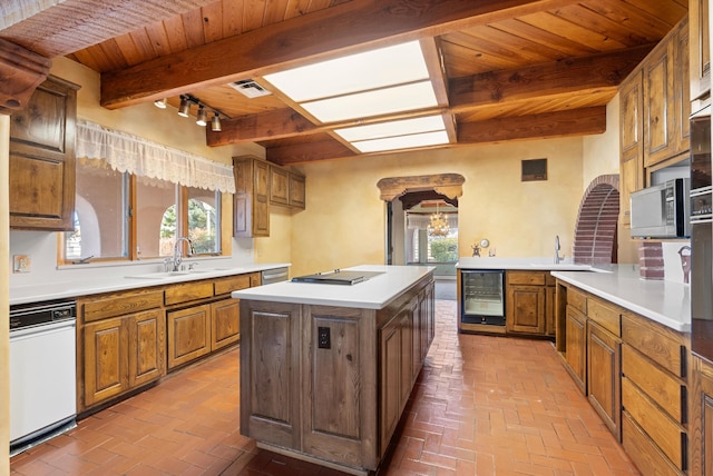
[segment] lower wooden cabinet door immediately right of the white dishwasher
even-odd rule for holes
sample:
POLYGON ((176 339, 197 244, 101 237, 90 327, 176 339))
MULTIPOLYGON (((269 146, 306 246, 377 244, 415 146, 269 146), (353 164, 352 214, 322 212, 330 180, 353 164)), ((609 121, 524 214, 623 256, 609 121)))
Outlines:
POLYGON ((125 318, 105 319, 84 327, 85 406, 128 389, 128 326, 125 318))

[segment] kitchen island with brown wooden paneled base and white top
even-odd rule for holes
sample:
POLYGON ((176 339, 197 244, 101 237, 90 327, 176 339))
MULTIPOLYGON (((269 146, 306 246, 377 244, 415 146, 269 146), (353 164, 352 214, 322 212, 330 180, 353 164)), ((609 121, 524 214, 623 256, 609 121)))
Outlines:
POLYGON ((241 433, 350 474, 383 459, 434 334, 433 267, 359 266, 353 285, 241 299, 241 433))

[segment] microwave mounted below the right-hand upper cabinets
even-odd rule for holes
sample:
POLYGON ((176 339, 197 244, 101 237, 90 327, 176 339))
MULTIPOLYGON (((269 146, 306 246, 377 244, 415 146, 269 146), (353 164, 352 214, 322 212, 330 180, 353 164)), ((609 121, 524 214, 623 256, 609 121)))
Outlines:
POLYGON ((690 179, 676 178, 632 194, 632 238, 691 236, 690 179))

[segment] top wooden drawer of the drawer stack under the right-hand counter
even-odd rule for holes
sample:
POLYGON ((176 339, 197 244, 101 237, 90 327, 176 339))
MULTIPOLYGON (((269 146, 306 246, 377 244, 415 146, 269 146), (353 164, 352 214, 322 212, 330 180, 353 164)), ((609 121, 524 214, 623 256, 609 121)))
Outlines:
POLYGON ((622 315, 622 340, 671 371, 685 378, 686 348, 683 336, 635 314, 622 315))

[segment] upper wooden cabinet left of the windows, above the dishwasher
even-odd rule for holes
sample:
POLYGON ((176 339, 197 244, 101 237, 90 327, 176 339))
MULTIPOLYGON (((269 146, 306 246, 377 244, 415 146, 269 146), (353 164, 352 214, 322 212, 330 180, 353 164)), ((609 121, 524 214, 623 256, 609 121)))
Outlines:
POLYGON ((10 228, 75 228, 78 89, 49 77, 10 117, 10 228))

